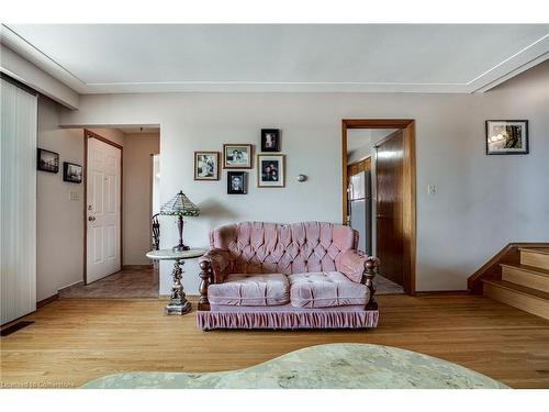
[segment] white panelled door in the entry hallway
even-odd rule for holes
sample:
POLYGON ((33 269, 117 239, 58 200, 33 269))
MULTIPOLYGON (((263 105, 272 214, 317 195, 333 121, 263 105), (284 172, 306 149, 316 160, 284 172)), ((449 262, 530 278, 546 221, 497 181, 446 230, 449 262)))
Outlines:
POLYGON ((88 138, 87 283, 121 270, 121 155, 88 138))

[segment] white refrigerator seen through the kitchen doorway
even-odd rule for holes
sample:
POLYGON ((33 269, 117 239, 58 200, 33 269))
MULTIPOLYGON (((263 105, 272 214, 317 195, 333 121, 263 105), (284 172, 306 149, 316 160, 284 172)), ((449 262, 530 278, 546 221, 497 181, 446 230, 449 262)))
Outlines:
POLYGON ((349 226, 358 231, 358 249, 372 253, 372 179, 370 171, 350 176, 348 192, 349 226))

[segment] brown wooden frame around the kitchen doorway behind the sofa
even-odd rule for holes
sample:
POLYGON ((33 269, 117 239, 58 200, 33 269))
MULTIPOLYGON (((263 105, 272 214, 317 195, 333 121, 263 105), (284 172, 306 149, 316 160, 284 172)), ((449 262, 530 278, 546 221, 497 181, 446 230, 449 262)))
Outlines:
MULTIPOLYGON (((416 261, 416 166, 415 120, 413 119, 343 119, 341 120, 341 223, 347 225, 347 130, 401 129, 404 138, 403 229, 404 229, 404 290, 415 294, 416 261)), ((374 168, 374 164, 371 165, 374 168)), ((373 234, 372 234, 373 235, 373 234)))

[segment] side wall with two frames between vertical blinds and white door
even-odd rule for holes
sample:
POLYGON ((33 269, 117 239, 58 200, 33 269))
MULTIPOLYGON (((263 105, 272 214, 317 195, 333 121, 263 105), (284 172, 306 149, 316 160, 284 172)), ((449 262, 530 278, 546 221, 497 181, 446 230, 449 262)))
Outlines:
POLYGON ((83 131, 59 129, 60 107, 38 98, 38 147, 59 154, 59 172, 36 171, 36 299, 82 280, 83 183, 63 181, 63 162, 83 165, 83 131), (70 192, 77 200, 70 200, 70 192))

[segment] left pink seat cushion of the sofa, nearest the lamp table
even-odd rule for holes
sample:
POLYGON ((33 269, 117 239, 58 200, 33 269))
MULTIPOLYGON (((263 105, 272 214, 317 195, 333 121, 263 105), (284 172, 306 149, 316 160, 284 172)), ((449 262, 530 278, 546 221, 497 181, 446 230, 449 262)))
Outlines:
POLYGON ((223 283, 210 285, 208 299, 212 304, 270 307, 290 301, 290 283, 282 274, 232 274, 223 283))

